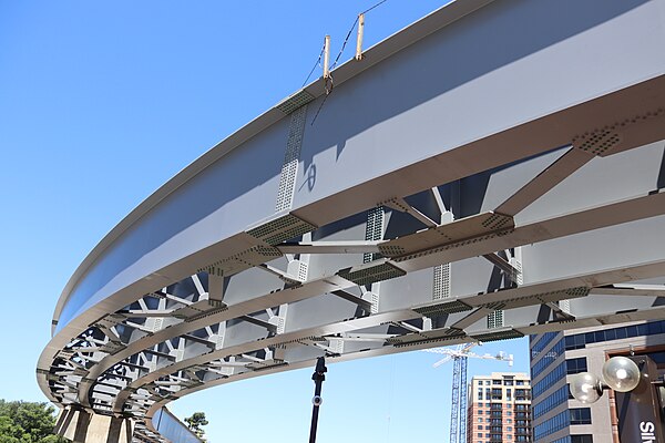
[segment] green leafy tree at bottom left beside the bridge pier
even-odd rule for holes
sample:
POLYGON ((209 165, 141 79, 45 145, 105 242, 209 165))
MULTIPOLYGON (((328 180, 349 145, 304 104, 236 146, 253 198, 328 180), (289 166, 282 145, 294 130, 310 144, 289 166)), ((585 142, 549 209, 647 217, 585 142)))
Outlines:
POLYGON ((0 443, 64 443, 53 434, 55 408, 49 403, 0 400, 0 443))

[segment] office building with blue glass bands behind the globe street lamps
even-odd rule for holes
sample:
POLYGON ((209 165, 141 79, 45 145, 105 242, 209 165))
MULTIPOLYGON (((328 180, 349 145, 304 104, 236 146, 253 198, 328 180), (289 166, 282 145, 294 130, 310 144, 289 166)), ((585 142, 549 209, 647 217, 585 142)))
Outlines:
POLYGON ((534 443, 618 443, 612 391, 584 404, 567 382, 579 372, 601 375, 613 356, 648 354, 665 372, 665 321, 548 332, 530 338, 534 443))

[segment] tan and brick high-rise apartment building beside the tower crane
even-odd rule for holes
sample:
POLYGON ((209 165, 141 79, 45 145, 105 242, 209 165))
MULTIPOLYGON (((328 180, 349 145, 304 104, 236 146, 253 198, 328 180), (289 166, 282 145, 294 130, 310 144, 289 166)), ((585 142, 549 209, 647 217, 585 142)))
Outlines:
POLYGON ((531 382, 525 373, 475 375, 469 387, 468 443, 531 442, 531 382))

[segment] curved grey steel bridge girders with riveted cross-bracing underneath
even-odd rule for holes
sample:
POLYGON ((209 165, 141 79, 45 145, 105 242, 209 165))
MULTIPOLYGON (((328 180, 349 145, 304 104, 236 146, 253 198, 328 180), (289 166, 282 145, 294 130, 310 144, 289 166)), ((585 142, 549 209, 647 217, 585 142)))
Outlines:
POLYGON ((663 318, 663 13, 460 0, 308 85, 98 245, 42 390, 157 441, 167 402, 323 354, 663 318))

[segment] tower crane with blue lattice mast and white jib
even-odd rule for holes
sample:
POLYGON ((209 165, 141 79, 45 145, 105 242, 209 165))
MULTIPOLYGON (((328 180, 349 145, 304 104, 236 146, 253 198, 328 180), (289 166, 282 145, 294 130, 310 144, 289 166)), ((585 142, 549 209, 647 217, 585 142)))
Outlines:
POLYGON ((438 368, 452 360, 452 411, 450 413, 450 443, 467 443, 467 360, 469 358, 482 360, 508 361, 513 365, 513 356, 499 351, 497 354, 478 354, 471 352, 480 342, 458 344, 450 348, 423 349, 426 352, 443 354, 441 360, 432 364, 438 368))

